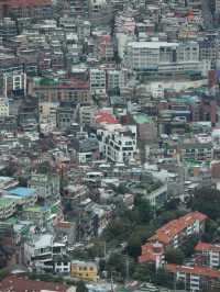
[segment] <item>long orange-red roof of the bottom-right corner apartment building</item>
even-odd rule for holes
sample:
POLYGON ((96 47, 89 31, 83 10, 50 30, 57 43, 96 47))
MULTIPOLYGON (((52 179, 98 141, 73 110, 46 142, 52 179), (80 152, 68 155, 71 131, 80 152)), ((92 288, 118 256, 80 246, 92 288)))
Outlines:
POLYGON ((208 278, 220 278, 220 271, 213 270, 208 267, 199 267, 199 266, 185 267, 185 266, 178 266, 176 263, 167 263, 165 266, 165 269, 174 273, 184 272, 184 273, 204 276, 208 278))

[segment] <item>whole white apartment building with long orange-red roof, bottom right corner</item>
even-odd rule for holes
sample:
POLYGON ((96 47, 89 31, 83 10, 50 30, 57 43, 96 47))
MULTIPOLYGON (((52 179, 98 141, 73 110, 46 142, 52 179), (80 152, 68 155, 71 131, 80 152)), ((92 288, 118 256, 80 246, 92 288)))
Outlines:
MULTIPOLYGON (((185 267, 168 263, 165 269, 174 274, 175 281, 182 282, 186 291, 199 292, 220 289, 220 271, 207 267, 185 267)), ((216 290, 217 291, 217 290, 216 290)))

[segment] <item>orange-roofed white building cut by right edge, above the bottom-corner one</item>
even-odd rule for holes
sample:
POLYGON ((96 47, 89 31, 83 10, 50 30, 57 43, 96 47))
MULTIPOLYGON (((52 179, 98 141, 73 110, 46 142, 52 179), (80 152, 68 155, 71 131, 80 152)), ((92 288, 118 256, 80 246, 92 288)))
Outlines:
POLYGON ((195 251, 201 256, 201 261, 210 268, 219 268, 220 266, 220 245, 198 243, 195 251))

